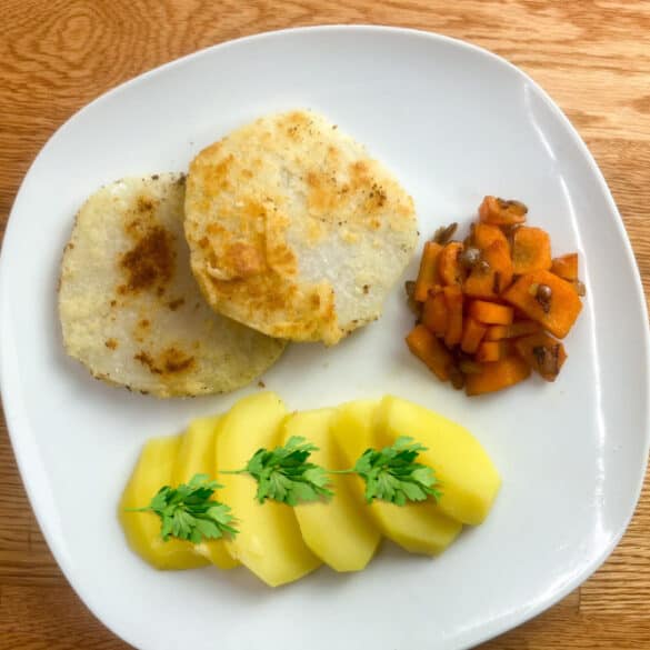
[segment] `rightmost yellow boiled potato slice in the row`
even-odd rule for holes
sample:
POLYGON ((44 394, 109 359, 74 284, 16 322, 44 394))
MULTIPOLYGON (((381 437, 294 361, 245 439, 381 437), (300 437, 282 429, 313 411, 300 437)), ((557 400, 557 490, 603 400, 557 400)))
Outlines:
POLYGON ((410 436, 428 448, 420 462, 436 471, 441 483, 439 507, 463 523, 481 523, 501 486, 501 478, 480 442, 464 428, 423 407, 387 396, 377 412, 382 447, 410 436))

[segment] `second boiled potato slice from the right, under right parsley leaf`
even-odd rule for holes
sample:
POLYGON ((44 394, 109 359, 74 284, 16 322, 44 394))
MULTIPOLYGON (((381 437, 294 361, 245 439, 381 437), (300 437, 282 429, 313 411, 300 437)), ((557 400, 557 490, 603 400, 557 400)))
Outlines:
MULTIPOLYGON (((344 458, 352 467, 359 457, 378 444, 373 437, 376 401, 357 401, 339 408, 331 423, 331 432, 344 458)), ((366 484, 360 477, 348 477, 359 508, 367 508, 381 532, 400 547, 416 553, 441 553, 458 536, 461 524, 440 512, 429 501, 396 506, 384 501, 367 504, 363 498, 366 484)))

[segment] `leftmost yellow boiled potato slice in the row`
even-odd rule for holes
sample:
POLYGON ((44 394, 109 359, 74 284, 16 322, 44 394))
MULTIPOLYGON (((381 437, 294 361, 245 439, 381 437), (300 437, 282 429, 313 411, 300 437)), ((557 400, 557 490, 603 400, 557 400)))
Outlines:
POLYGON ((180 436, 147 442, 119 506, 119 519, 129 546, 157 569, 193 569, 209 563, 188 541, 173 538, 163 541, 160 517, 154 512, 126 512, 127 508, 148 506, 160 488, 170 484, 180 443, 180 436))

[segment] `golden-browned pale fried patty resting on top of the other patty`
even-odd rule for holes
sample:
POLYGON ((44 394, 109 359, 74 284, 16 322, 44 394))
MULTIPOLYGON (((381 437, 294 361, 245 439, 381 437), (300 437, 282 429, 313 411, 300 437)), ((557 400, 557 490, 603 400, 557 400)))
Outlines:
POLYGON ((411 197, 361 144, 292 111, 194 158, 186 234, 217 311, 273 337, 332 344, 380 316, 417 221, 411 197))

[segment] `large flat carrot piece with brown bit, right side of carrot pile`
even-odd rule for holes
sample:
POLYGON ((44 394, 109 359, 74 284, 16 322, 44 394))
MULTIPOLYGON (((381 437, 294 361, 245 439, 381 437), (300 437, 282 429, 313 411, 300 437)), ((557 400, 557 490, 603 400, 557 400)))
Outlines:
POLYGON ((559 339, 569 333, 582 309, 576 289, 550 271, 533 271, 521 276, 502 298, 559 339), (548 300, 538 297, 540 286, 549 288, 548 300))

